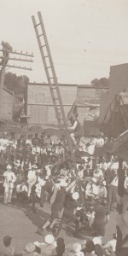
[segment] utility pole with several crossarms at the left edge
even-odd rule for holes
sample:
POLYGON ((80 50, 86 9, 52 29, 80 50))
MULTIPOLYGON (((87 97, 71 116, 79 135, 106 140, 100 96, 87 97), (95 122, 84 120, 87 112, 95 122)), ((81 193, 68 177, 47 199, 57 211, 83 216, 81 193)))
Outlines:
POLYGON ((32 70, 31 67, 23 67, 23 66, 15 66, 9 64, 10 61, 25 61, 25 62, 33 62, 33 54, 23 53, 22 51, 17 52, 16 50, 13 51, 12 46, 9 43, 2 42, 1 45, 3 46, 3 49, 0 49, 0 51, 3 52, 3 55, 0 56, 0 120, 3 119, 3 89, 4 89, 4 79, 5 79, 5 69, 6 67, 13 67, 13 68, 19 68, 24 70, 32 70), (11 55, 22 55, 23 58, 20 58, 20 56, 13 57, 11 55), (25 58, 27 57, 27 59, 25 58), (28 59, 29 57, 29 59, 28 59), (31 59, 30 59, 31 57, 31 59))

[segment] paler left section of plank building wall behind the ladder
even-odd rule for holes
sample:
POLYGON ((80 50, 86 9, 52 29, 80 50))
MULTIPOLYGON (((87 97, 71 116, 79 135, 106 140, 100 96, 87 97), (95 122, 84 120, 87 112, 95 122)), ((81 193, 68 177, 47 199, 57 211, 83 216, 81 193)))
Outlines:
MULTIPOLYGON (((65 113, 76 101, 77 84, 59 84, 65 113)), ((26 115, 30 125, 57 125, 49 84, 28 84, 26 115)))

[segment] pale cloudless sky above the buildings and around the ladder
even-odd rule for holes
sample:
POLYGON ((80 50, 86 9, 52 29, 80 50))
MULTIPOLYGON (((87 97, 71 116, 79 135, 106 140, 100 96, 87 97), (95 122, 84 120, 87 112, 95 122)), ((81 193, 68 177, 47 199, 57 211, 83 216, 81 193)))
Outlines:
MULTIPOLYGON (((41 12, 59 83, 90 84, 128 62, 127 0, 0 0, 0 39, 33 53, 32 71, 7 67, 30 82, 47 82, 32 15, 41 12)), ((24 62, 10 62, 25 66, 24 62)))

